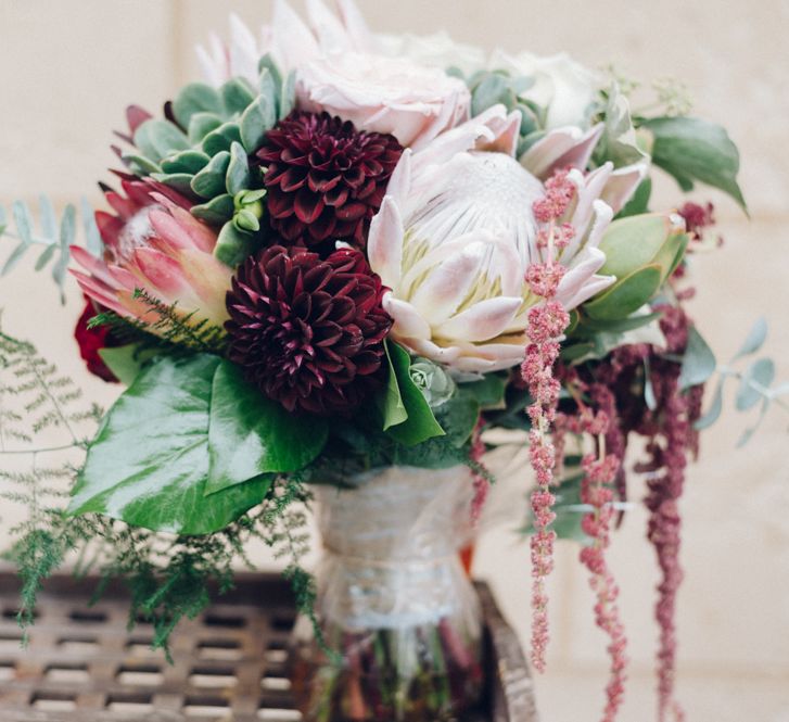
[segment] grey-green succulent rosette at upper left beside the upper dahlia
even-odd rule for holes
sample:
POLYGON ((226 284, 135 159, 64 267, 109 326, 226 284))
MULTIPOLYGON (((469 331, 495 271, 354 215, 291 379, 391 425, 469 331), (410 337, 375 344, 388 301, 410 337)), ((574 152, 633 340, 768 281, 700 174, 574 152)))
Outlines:
POLYGON ((135 131, 130 170, 150 176, 198 202, 192 214, 219 228, 215 255, 237 266, 260 242, 266 194, 263 175, 249 156, 293 109, 294 76, 265 56, 257 88, 232 78, 220 88, 186 86, 175 98, 175 123, 151 118, 135 131))

